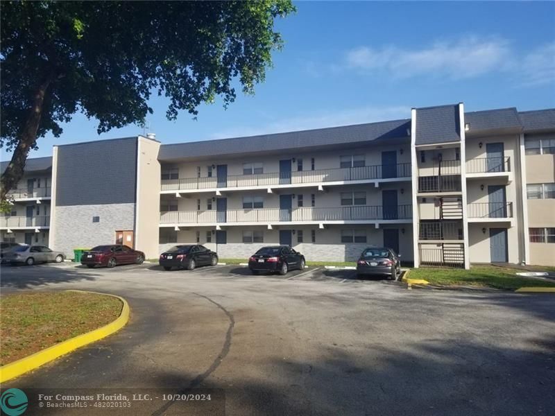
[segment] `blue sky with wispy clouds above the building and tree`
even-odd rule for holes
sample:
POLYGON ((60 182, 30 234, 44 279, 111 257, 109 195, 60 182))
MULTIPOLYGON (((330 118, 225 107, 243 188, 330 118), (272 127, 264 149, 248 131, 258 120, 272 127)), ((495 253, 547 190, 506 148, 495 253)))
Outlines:
MULTIPOLYGON (((278 21, 284 49, 255 96, 240 92, 165 118, 151 101, 150 130, 163 144, 409 118, 411 107, 458 103, 467 111, 555 107, 554 2, 298 2, 278 21)), ((125 137, 137 125, 98 135, 76 114, 53 144, 125 137)), ((2 152, 2 159, 7 155, 2 152)))

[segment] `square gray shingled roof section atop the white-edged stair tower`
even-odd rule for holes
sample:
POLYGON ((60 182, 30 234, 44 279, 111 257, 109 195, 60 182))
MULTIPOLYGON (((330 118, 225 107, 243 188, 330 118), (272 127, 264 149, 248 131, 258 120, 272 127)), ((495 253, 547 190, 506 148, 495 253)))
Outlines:
POLYGON ((461 140, 459 105, 416 109, 416 145, 461 140))

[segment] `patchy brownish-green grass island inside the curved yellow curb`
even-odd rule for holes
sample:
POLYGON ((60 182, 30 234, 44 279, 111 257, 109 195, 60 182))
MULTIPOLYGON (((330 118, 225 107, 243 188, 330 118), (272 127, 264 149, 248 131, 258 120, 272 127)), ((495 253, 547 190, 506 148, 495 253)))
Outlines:
POLYGON ((121 313, 112 296, 77 292, 18 293, 0 297, 0 365, 103 327, 121 313))

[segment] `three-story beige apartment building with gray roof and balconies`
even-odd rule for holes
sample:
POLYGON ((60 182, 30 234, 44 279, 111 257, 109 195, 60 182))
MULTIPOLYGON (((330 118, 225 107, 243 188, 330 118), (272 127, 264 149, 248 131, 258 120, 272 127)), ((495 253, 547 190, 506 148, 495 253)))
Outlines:
POLYGON ((202 243, 246 258, 290 244, 308 260, 351 261, 386 245, 415 266, 554 264, 555 110, 465 113, 459 103, 410 116, 184 144, 55 146, 52 159, 28 162, 22 183, 50 169, 40 182, 51 184, 49 234, 20 231, 12 218, 27 226, 39 216, 15 210, 2 238, 42 232, 67 254, 121 241, 148 257, 202 243))

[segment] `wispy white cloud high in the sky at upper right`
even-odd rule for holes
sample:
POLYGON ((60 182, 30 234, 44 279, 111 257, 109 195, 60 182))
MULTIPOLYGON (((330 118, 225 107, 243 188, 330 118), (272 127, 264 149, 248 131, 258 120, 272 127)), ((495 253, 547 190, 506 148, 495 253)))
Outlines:
POLYGON ((456 79, 502 69, 510 57, 511 48, 506 40, 470 36, 421 49, 361 46, 348 51, 345 64, 363 71, 383 70, 397 78, 434 75, 456 79))

